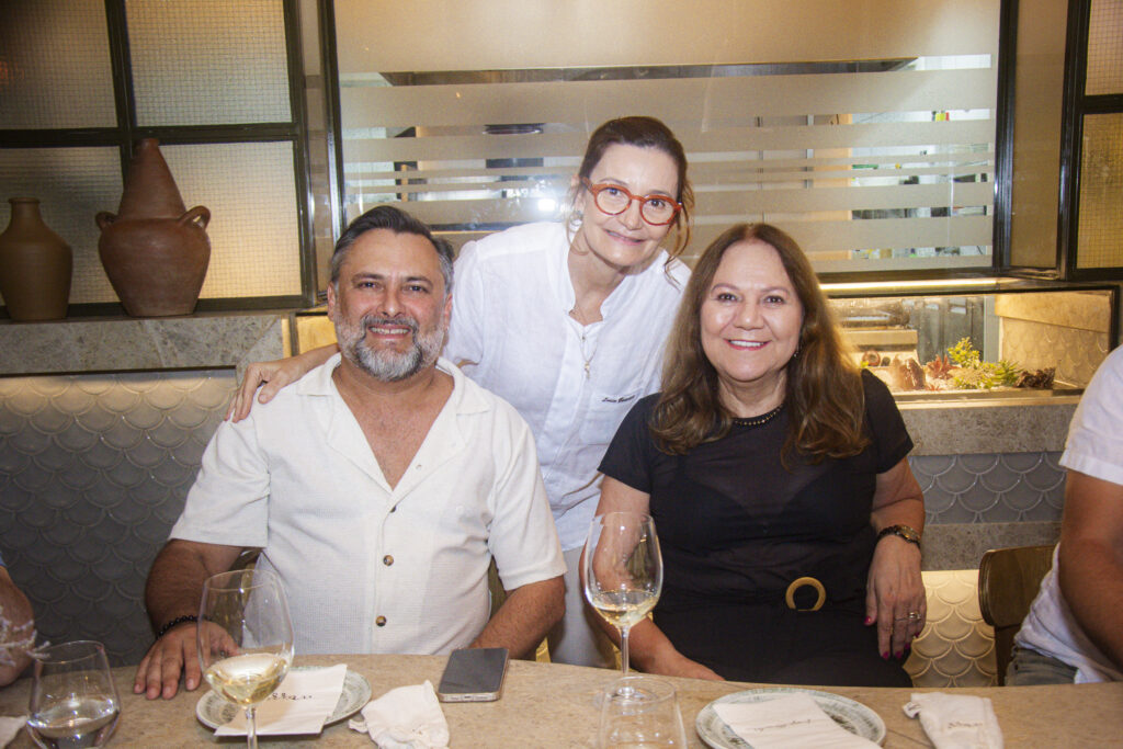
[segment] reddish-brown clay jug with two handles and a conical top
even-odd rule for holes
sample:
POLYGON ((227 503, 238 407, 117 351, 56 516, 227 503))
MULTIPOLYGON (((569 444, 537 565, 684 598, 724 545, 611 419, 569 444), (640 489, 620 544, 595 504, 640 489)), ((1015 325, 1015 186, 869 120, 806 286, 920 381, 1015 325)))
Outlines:
POLYGON ((133 317, 190 314, 210 263, 210 211, 183 205, 155 138, 140 141, 117 214, 101 211, 98 254, 133 317))

